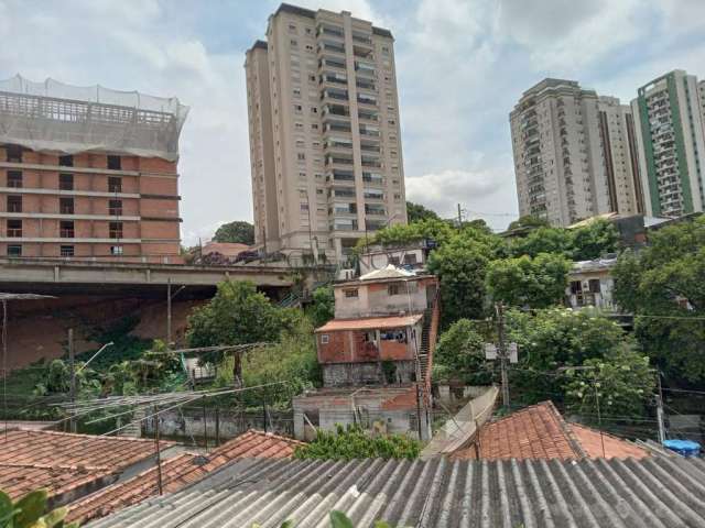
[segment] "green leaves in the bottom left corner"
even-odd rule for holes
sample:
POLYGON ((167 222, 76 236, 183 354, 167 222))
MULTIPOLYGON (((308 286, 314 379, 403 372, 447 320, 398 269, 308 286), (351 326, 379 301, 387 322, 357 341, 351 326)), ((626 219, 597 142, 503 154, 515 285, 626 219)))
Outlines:
POLYGON ((0 528, 78 528, 77 522, 64 524, 68 508, 47 512, 46 490, 26 494, 18 502, 0 491, 0 528))

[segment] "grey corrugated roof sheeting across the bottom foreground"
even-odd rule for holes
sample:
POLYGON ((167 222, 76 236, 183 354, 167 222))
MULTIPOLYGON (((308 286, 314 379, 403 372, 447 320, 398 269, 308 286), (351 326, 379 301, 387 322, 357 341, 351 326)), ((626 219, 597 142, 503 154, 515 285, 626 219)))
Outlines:
POLYGON ((702 527, 705 463, 576 461, 286 461, 246 459, 94 528, 702 527))

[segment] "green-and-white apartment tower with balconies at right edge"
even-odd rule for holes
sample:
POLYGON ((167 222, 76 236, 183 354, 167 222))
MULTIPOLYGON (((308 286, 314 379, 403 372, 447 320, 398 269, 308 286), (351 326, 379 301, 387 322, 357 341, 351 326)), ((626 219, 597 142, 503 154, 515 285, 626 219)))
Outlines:
POLYGON ((631 108, 641 146, 646 213, 679 217, 705 204, 705 117, 702 84, 676 69, 638 90, 631 108))

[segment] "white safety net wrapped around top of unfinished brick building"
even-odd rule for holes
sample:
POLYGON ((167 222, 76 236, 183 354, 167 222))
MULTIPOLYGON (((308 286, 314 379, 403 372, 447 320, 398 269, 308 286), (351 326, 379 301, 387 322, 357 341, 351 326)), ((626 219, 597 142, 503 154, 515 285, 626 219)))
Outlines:
POLYGON ((65 154, 178 158, 188 107, 178 99, 21 76, 0 80, 0 143, 65 154))

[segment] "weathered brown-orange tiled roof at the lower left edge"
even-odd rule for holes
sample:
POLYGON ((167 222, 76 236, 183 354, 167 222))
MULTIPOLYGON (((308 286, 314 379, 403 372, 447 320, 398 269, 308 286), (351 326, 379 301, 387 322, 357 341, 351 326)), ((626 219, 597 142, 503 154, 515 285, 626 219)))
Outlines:
POLYGON ((121 473, 153 454, 152 440, 37 430, 11 430, 6 438, 0 432, 0 490, 12 498, 37 487, 57 496, 121 473))

